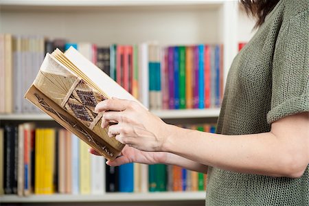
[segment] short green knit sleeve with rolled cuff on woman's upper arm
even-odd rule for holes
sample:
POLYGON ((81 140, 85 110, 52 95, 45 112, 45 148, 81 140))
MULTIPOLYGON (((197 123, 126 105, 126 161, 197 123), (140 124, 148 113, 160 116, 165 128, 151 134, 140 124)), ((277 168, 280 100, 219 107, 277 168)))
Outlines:
POLYGON ((267 122, 309 111, 308 10, 282 25, 275 45, 267 122))

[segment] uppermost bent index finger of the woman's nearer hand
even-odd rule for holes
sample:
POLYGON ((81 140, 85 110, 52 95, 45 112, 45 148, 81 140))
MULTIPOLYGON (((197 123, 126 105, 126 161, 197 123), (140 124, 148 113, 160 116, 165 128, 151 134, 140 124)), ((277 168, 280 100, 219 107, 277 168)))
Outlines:
POLYGON ((131 101, 129 100, 104 100, 95 106, 95 112, 100 113, 102 111, 124 111, 129 104, 131 104, 131 101))

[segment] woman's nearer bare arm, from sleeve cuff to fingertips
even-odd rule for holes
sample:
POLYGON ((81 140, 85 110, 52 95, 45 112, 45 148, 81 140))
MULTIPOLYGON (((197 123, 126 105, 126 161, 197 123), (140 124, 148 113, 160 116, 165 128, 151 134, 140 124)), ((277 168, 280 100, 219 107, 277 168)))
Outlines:
POLYGON ((268 176, 301 176, 309 162, 308 113, 274 122, 269 133, 216 135, 165 124, 128 100, 106 100, 97 111, 108 111, 102 126, 118 122, 108 130, 111 137, 139 150, 172 152, 202 165, 268 176))

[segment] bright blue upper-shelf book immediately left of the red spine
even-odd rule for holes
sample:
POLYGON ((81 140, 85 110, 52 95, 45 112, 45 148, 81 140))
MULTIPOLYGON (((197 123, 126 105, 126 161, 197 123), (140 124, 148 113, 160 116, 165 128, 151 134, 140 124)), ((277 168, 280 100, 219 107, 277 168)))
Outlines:
POLYGON ((205 46, 198 45, 198 108, 205 108, 205 46))

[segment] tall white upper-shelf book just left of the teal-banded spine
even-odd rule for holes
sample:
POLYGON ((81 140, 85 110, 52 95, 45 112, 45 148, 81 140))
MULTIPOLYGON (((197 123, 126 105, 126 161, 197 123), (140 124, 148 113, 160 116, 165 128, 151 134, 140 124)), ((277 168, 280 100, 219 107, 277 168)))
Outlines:
POLYGON ((149 108, 148 43, 139 45, 139 101, 149 108))

